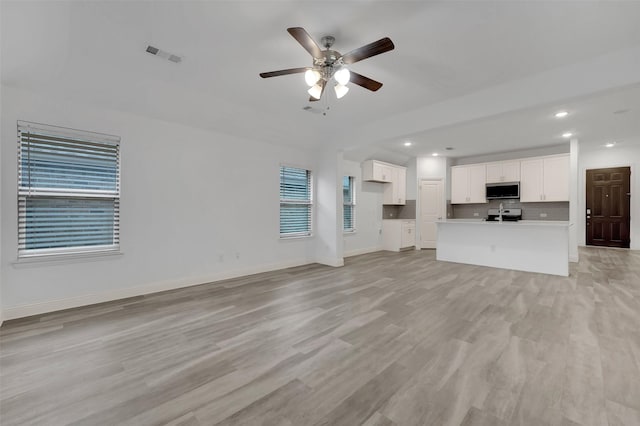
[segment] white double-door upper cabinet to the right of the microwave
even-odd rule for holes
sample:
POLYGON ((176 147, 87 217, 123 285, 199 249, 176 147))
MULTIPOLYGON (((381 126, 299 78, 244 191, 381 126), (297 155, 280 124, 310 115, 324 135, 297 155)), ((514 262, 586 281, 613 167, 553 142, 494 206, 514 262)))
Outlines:
POLYGON ((520 201, 569 201, 569 155, 522 160, 520 201))

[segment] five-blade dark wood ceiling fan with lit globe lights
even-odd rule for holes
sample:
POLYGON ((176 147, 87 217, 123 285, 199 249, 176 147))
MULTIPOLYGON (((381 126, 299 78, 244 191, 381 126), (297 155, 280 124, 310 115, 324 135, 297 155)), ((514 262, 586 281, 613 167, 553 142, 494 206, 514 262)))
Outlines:
POLYGON ((260 73, 260 77, 269 78, 279 75, 305 73, 305 81, 311 86, 308 90, 310 95, 309 101, 319 100, 324 93, 327 83, 332 78, 337 83, 334 86, 334 90, 338 99, 346 95, 349 91, 347 87, 347 83, 349 82, 371 90, 372 92, 382 87, 382 83, 379 81, 353 72, 347 68, 347 65, 393 50, 395 46, 390 38, 382 38, 342 55, 340 52, 331 50, 331 46, 333 46, 335 42, 335 38, 332 36, 322 37, 320 43, 325 48, 325 50, 322 50, 304 28, 287 28, 287 31, 311 54, 313 57, 313 66, 263 72, 260 73))

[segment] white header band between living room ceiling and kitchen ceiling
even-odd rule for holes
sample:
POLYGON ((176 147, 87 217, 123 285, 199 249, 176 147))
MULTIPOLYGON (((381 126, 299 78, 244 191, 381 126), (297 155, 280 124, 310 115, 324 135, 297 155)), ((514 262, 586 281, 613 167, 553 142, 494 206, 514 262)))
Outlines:
POLYGON ((412 157, 433 153, 471 157, 568 144, 570 138, 562 136, 566 132, 572 133, 571 138, 577 138, 581 146, 591 148, 609 142, 617 146, 640 144, 640 84, 439 127, 375 145, 412 157), (555 113, 561 110, 569 115, 555 118, 555 113), (412 145, 404 146, 405 141, 411 141, 412 145), (454 150, 448 151, 446 147, 454 150))

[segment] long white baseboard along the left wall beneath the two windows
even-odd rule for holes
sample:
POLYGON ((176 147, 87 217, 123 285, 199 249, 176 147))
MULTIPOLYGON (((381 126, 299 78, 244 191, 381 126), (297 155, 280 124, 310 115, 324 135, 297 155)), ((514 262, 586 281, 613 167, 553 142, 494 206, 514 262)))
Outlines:
MULTIPOLYGON (((86 294, 66 299, 48 300, 21 306, 13 306, 3 309, 1 320, 12 320, 17 318, 30 317, 49 312, 61 311, 64 309, 79 308, 81 306, 95 305, 96 303, 112 302, 114 300, 126 299, 129 297, 143 296, 145 294, 159 293, 161 291, 176 290, 194 285, 208 284, 211 282, 228 280, 231 278, 244 277, 247 275, 260 274, 263 272, 277 271, 280 269, 293 268, 296 266, 318 263, 313 261, 298 260, 292 262, 280 262, 267 265, 259 265, 251 268, 226 271, 220 274, 204 276, 199 278, 187 278, 178 280, 160 281, 151 284, 122 288, 104 293, 86 294)), ((334 266, 334 265, 331 265, 334 266)), ((342 265, 336 265, 342 266, 342 265)), ((0 320, 0 323, 1 323, 0 320)))

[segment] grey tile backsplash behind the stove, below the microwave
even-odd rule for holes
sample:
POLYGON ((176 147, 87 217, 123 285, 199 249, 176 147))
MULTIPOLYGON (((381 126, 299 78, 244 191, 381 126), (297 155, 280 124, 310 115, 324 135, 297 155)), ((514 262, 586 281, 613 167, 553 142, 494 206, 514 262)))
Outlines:
MULTIPOLYGON (((522 209, 523 220, 569 220, 569 203, 520 203, 518 200, 502 200, 505 209, 522 209)), ((487 210, 500 207, 500 200, 491 200, 484 204, 451 205, 454 219, 473 219, 487 217, 487 210), (477 215, 476 215, 477 213, 477 215)))

